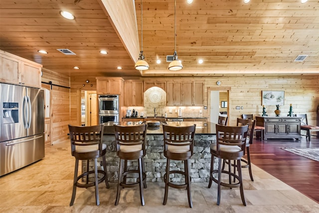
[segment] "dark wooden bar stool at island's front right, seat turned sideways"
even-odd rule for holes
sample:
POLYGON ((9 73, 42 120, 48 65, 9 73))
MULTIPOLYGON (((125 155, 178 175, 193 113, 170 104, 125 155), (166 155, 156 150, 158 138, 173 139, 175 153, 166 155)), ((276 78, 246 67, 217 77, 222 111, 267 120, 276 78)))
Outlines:
POLYGON ((210 145, 210 153, 212 155, 210 162, 210 177, 208 188, 211 187, 214 181, 217 186, 217 205, 220 204, 221 197, 221 186, 228 188, 240 189, 240 196, 243 205, 246 206, 246 201, 244 197, 243 181, 241 174, 241 157, 244 155, 244 150, 246 146, 248 125, 246 126, 223 126, 216 124, 216 144, 210 145), (214 170, 214 158, 218 158, 218 169, 214 170), (227 161, 237 161, 237 171, 232 173, 230 170, 226 171, 222 169, 221 160, 227 161), (229 176, 229 183, 222 182, 221 174, 227 174, 229 176), (214 174, 218 174, 218 178, 214 177, 214 174), (231 183, 231 177, 235 178, 235 182, 231 183))

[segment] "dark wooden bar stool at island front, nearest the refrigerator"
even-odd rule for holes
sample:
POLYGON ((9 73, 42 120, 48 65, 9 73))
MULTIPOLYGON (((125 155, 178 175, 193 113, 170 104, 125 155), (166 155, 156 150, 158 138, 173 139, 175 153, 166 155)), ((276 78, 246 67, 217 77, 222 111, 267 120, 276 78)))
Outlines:
POLYGON ((110 188, 106 169, 106 144, 103 144, 103 125, 96 126, 72 126, 69 124, 71 139, 71 154, 75 157, 73 191, 70 206, 74 204, 76 188, 88 188, 95 186, 96 205, 100 205, 98 185, 105 181, 106 188, 110 188), (98 170, 97 159, 102 157, 103 169, 98 170), (89 160, 94 160, 94 170, 89 171, 89 160), (87 171, 78 176, 79 160, 87 161, 87 171), (94 174, 94 182, 89 181, 89 175, 94 174), (98 174, 103 177, 99 179, 98 174), (85 183, 79 182, 80 179, 86 179, 85 183))

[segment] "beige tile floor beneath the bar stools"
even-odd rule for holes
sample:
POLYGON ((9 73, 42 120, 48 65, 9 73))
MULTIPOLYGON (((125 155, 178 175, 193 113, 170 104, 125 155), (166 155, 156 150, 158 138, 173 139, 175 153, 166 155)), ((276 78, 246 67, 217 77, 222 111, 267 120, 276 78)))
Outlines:
POLYGON ((138 188, 124 189, 118 206, 114 206, 116 184, 110 189, 99 185, 100 206, 95 204, 94 188, 77 189, 72 194, 74 158, 69 141, 46 148, 45 158, 0 178, 1 213, 319 213, 319 204, 253 166, 255 181, 243 169, 247 206, 241 203, 239 189, 222 188, 220 206, 216 205, 217 186, 192 183, 193 208, 188 207, 185 190, 169 189, 166 206, 162 205, 163 183, 148 183, 144 191, 145 206, 140 205, 138 188))

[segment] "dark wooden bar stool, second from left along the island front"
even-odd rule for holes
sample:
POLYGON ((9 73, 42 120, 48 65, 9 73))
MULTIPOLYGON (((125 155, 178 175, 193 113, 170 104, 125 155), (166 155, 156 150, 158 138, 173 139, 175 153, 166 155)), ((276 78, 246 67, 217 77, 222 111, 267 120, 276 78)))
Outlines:
POLYGON ((143 185, 146 185, 146 173, 144 165, 144 156, 146 155, 146 132, 147 125, 138 126, 118 126, 114 125, 116 153, 120 158, 118 189, 115 200, 115 206, 119 204, 121 188, 140 187, 140 198, 142 206, 145 205, 143 185), (137 170, 127 170, 128 160, 138 160, 137 170), (124 165, 123 165, 124 164, 124 165), (124 166, 124 169, 123 169, 124 166), (127 175, 138 173, 139 178, 137 182, 127 182, 127 175))

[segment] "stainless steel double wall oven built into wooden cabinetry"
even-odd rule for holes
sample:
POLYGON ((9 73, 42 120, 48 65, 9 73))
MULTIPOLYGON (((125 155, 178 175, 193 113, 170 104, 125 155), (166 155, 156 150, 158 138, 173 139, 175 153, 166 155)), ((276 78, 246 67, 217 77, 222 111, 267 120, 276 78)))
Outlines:
POLYGON ((119 95, 99 95, 98 98, 100 124, 119 122, 119 95))

